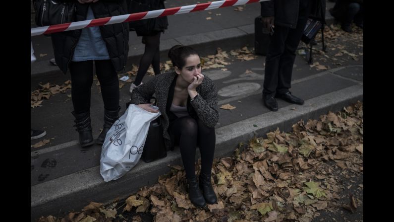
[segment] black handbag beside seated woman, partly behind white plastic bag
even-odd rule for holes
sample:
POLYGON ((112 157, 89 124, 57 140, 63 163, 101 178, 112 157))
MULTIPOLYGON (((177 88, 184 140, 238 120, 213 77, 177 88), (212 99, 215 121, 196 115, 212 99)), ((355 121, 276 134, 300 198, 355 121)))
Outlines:
MULTIPOLYGON (((154 105, 156 105, 156 98, 152 96, 151 99, 155 100, 154 105)), ((126 103, 126 107, 129 105, 130 102, 126 103)), ((152 120, 149 125, 141 159, 144 160, 144 162, 152 162, 166 156, 167 148, 164 143, 162 121, 159 116, 155 120, 152 120)))

